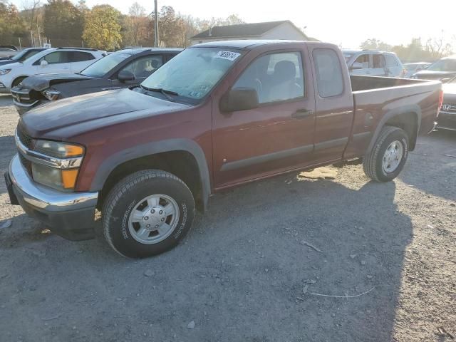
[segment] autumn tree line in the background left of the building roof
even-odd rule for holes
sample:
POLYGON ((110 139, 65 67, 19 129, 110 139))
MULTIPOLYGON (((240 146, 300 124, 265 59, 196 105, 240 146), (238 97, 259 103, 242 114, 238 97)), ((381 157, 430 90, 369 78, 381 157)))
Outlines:
MULTIPOLYGON (((128 14, 109 4, 89 9, 86 1, 24 0, 19 10, 0 0, 0 44, 15 46, 86 46, 114 51, 125 46, 154 46, 154 13, 135 2, 128 14)), ((185 47, 190 37, 211 26, 241 24, 236 15, 199 19, 163 6, 158 13, 159 46, 185 47)))

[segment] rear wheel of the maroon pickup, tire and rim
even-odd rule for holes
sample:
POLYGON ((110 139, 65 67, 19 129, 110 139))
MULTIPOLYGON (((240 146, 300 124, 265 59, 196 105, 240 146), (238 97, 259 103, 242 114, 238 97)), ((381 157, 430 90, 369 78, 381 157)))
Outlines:
POLYGON ((407 157, 407 133, 398 127, 386 126, 363 159, 364 173, 376 182, 389 182, 398 177, 407 157))

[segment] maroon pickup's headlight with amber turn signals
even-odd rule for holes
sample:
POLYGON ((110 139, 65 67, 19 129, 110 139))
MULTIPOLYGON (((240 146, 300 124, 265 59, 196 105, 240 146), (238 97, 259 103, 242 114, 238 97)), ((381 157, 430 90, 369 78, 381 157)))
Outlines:
POLYGON ((35 140, 33 151, 49 157, 59 158, 60 167, 31 163, 32 177, 35 182, 57 190, 73 190, 78 179, 79 166, 84 155, 84 147, 47 140, 35 140))

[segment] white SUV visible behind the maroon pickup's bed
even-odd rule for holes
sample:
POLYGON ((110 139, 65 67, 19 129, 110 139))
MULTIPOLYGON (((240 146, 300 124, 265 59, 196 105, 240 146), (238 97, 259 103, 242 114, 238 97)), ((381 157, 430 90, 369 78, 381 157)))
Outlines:
POLYGON ((405 68, 393 52, 342 50, 350 75, 404 77, 405 68))

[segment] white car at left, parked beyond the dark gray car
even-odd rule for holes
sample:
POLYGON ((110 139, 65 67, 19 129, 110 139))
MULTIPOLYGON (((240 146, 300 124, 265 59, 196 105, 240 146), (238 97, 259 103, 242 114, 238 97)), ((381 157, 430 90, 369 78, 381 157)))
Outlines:
POLYGON ((11 88, 28 76, 79 73, 104 56, 105 51, 94 48, 48 48, 23 62, 0 66, 0 93, 9 93, 11 88))

